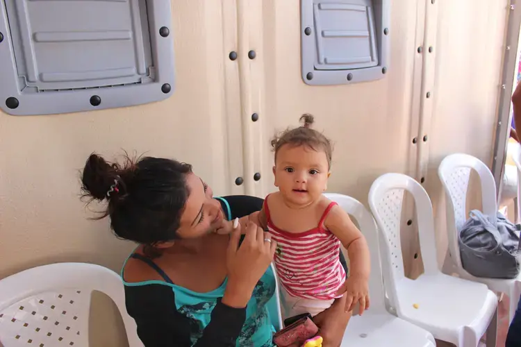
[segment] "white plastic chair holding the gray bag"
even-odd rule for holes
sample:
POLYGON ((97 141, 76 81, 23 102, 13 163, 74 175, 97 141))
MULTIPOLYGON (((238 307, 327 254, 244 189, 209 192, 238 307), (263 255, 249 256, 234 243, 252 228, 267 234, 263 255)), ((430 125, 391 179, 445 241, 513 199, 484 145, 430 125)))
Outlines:
MULTIPOLYGON (((514 160, 518 160, 515 159, 514 160)), ((438 167, 438 176, 445 187, 447 196, 447 234, 452 264, 449 269, 461 278, 481 282, 493 291, 500 291, 510 298, 509 318, 512 321, 521 295, 521 274, 513 279, 478 278, 463 269, 458 245, 458 234, 467 220, 466 198, 470 172, 474 170, 481 181, 481 201, 483 214, 495 216, 497 213, 496 185, 490 169, 472 155, 456 153, 447 156, 438 167)))

